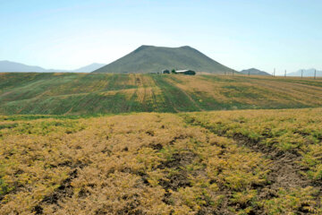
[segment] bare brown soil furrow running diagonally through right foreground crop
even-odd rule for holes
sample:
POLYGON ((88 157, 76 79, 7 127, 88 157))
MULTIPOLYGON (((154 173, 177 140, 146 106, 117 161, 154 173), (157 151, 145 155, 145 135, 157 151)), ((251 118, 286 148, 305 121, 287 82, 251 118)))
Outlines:
MULTIPOLYGON (((286 191, 296 189, 305 191, 306 189, 312 189, 316 191, 314 202, 315 204, 320 205, 322 183, 320 180, 312 180, 303 174, 303 170, 307 170, 307 168, 303 168, 303 166, 300 165, 303 157, 299 151, 280 150, 272 146, 264 145, 258 141, 254 141, 254 139, 251 139, 242 133, 232 133, 232 131, 225 129, 218 130, 208 123, 205 118, 199 120, 198 117, 190 116, 190 114, 182 114, 181 116, 188 125, 206 128, 211 133, 232 139, 240 147, 247 147, 251 151, 261 153, 265 158, 270 159, 271 166, 269 168, 270 172, 267 175, 267 179, 271 184, 263 187, 263 189, 259 188, 259 192, 263 193, 264 198, 267 198, 264 193, 277 196, 277 193, 281 189, 286 191)), ((206 117, 209 118, 209 116, 206 117)), ((220 121, 217 121, 216 124, 220 124, 220 121)))

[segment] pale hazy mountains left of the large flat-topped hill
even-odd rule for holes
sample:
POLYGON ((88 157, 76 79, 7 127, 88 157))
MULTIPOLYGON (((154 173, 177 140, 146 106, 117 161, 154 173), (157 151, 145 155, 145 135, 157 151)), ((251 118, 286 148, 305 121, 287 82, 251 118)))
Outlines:
POLYGON ((27 65, 20 64, 11 61, 0 61, 0 73, 12 73, 12 72, 20 72, 20 73, 90 73, 98 68, 104 66, 106 64, 89 64, 83 67, 80 67, 76 70, 61 70, 61 69, 44 69, 40 66, 36 65, 27 65))

